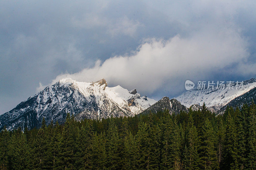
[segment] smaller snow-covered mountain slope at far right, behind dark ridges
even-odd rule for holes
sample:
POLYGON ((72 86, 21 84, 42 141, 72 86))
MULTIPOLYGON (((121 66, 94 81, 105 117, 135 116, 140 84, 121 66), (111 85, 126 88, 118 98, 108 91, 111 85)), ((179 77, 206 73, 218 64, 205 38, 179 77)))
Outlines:
MULTIPOLYGON (((227 84, 225 84, 227 86, 227 84)), ((251 89, 256 87, 256 79, 252 78, 243 82, 243 87, 236 88, 236 83, 234 83, 230 88, 219 88, 214 87, 209 89, 192 89, 182 93, 180 96, 176 97, 181 104, 186 107, 198 104, 200 106, 205 103, 205 105, 211 110, 218 112, 222 107, 227 105, 230 101, 238 96, 241 96, 251 89)))

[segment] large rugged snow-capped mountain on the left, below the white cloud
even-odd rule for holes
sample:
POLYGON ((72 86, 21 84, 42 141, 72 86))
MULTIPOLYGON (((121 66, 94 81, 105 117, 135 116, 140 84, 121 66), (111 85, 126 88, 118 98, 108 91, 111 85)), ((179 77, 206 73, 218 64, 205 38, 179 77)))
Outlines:
POLYGON ((4 125, 8 129, 40 127, 43 117, 46 124, 51 120, 62 124, 67 113, 74 114, 78 121, 134 116, 154 103, 154 99, 140 96, 136 89, 108 87, 105 79, 96 82, 62 79, 0 115, 0 129, 4 125))

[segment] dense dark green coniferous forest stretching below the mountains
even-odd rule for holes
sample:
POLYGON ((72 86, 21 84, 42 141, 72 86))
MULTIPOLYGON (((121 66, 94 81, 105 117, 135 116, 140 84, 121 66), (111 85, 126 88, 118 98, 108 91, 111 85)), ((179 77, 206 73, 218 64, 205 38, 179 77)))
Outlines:
POLYGON ((256 169, 256 106, 1 131, 1 169, 256 169))

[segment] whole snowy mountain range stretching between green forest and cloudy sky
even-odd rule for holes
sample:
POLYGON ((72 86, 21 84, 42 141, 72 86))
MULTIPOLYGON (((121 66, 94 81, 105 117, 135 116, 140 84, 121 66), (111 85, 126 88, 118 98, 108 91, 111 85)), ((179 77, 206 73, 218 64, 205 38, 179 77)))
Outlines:
POLYGON ((169 110, 170 114, 200 109, 203 103, 215 113, 221 113, 227 106, 241 107, 243 103, 255 100, 256 79, 244 81, 242 89, 235 85, 230 89, 192 89, 170 99, 163 97, 156 101, 140 96, 136 89, 127 90, 121 86, 108 87, 105 79, 95 82, 78 82, 70 78, 61 79, 47 86, 27 101, 0 115, 0 130, 21 127, 21 129, 40 127, 43 118, 46 124, 65 122, 67 113, 73 114, 77 121, 84 118, 102 119, 108 117, 131 117, 169 110))

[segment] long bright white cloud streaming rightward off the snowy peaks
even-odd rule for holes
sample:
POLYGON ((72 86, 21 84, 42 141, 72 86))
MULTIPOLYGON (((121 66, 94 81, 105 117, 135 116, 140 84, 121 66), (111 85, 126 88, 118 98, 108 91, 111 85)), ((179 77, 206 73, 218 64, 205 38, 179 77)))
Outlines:
POLYGON ((130 55, 114 56, 102 63, 98 60, 94 67, 58 75, 52 84, 62 78, 87 82, 105 78, 110 85, 137 88, 148 95, 160 89, 180 91, 186 79, 210 77, 248 56, 247 41, 235 29, 207 29, 188 37, 145 39, 130 55))

